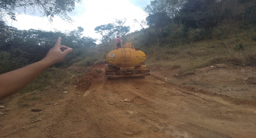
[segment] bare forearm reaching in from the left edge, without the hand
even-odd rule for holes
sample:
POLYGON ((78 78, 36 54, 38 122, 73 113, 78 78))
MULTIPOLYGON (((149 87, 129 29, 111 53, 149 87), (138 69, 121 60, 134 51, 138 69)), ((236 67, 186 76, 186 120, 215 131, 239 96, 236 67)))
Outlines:
POLYGON ((0 100, 21 90, 51 64, 45 59, 0 75, 0 100))

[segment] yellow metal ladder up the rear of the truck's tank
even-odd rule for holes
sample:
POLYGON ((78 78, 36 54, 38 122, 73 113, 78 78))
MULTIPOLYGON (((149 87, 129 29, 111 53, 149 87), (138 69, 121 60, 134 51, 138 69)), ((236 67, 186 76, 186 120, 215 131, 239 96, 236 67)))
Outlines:
POLYGON ((126 43, 121 46, 122 51, 122 65, 123 66, 131 66, 131 42, 126 43), (127 47, 128 44, 128 47, 127 47), (122 46, 125 46, 124 48, 122 46), (126 48, 129 48, 126 50, 126 48), (126 57, 128 56, 128 57, 126 57))

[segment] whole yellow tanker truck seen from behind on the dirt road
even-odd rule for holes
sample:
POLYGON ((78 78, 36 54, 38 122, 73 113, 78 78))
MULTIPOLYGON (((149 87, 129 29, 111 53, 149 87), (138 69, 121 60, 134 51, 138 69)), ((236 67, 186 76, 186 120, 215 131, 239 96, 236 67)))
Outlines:
MULTIPOLYGON (((146 65, 143 63, 146 54, 139 48, 133 46, 133 40, 130 39, 121 48, 112 50, 105 55, 108 64, 105 65, 105 77, 111 79, 113 77, 139 77, 145 78, 150 75, 146 65)), ((122 42, 121 42, 122 44, 122 42)))

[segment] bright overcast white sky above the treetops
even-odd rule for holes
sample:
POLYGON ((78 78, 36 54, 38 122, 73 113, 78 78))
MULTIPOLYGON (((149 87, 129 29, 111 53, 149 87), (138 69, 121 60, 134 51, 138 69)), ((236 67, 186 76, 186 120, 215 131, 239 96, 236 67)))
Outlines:
POLYGON ((69 14, 74 20, 72 24, 55 17, 50 23, 46 17, 34 15, 17 15, 17 21, 9 21, 9 25, 21 30, 41 29, 59 31, 74 30, 77 27, 84 28, 84 36, 100 38, 101 35, 95 33, 94 28, 108 24, 115 18, 127 18, 126 25, 130 25, 131 32, 140 30, 139 24, 133 22, 133 19, 146 19, 146 13, 142 7, 150 4, 150 0, 83 0, 76 4, 75 10, 69 14))

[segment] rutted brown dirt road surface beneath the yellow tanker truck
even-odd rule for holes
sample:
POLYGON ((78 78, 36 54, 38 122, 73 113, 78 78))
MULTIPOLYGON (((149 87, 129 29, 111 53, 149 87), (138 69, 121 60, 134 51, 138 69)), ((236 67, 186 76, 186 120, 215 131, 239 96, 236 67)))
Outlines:
POLYGON ((97 69, 5 100, 10 111, 0 109, 0 137, 256 138, 253 102, 238 104, 155 75, 109 81, 103 76, 97 69), (36 119, 42 120, 31 122, 36 119))

